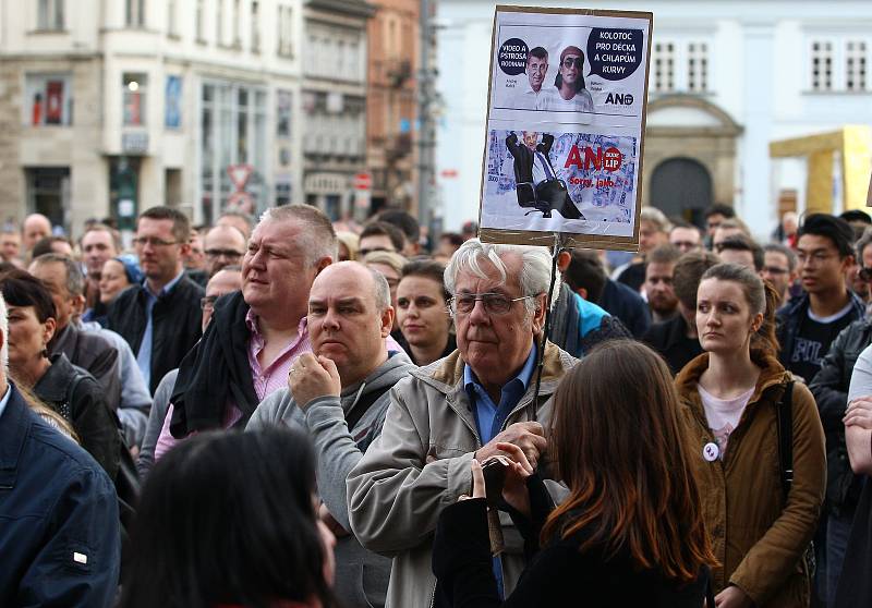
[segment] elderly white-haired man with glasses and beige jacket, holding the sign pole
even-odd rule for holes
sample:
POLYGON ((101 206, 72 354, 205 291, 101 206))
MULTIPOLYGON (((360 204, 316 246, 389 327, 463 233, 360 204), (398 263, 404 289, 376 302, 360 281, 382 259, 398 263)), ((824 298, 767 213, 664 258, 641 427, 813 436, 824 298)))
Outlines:
MULTIPOLYGON (((576 363, 547 343, 536 393, 550 263, 544 247, 472 239, 445 271, 458 350, 393 388, 382 435, 348 478, 354 534, 364 547, 393 558, 386 606, 432 605, 433 531, 441 509, 470 491, 473 458, 507 455, 497 446, 510 442, 534 466, 542 460, 549 398, 576 363)), ((511 527, 508 519, 502 526, 511 527)), ((523 570, 523 551, 516 534, 505 538, 494 570, 508 595, 523 570)))

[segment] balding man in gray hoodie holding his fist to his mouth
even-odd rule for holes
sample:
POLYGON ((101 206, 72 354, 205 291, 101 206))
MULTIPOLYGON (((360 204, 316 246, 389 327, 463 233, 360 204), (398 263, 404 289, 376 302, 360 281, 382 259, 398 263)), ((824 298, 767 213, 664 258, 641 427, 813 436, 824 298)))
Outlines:
POLYGON ((337 536, 336 593, 343 606, 384 606, 390 560, 349 534, 346 477, 382 431, 390 388, 414 365, 388 353, 393 324, 385 278, 356 262, 325 268, 312 283, 306 327, 312 352, 291 366, 289 389, 255 410, 246 430, 270 424, 298 426, 317 453, 320 516, 337 536))

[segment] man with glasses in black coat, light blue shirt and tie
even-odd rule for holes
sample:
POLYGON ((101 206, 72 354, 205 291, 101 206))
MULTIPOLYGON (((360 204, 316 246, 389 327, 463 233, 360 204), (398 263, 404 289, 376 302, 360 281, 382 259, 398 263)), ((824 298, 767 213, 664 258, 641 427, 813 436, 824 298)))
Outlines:
POLYGON ((204 291, 185 276, 182 264, 190 236, 187 218, 178 209, 143 211, 134 244, 145 282, 123 291, 109 308, 109 329, 130 343, 153 394, 202 335, 204 291))

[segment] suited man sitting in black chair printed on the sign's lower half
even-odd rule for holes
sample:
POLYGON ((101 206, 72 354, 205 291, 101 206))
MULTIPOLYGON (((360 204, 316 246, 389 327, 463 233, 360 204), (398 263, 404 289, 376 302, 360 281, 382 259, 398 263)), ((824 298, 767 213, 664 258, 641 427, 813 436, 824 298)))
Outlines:
POLYGON ((548 158, 554 135, 544 133, 542 143, 536 143, 537 139, 538 133, 535 131, 524 131, 523 144, 518 143, 516 133, 506 137, 506 147, 514 159, 518 204, 521 207, 534 207, 545 218, 552 217, 552 211, 557 211, 566 219, 584 219, 548 158))

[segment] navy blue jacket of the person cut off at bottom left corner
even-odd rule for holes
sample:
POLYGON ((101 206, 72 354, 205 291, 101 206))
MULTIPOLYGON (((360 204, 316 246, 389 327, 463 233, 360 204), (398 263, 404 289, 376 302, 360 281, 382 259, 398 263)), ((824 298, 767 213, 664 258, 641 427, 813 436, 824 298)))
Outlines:
POLYGON ((111 606, 121 551, 112 482, 10 390, 0 417, 0 606, 111 606))

